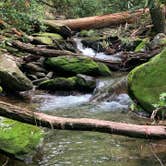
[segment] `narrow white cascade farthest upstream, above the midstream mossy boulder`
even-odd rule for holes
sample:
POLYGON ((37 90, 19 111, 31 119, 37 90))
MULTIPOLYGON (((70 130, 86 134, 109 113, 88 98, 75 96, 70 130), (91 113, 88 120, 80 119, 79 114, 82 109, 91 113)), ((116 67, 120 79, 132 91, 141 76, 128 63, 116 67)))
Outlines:
POLYGON ((82 44, 82 42, 81 42, 81 39, 75 38, 74 41, 76 42, 77 49, 79 51, 81 51, 82 54, 85 55, 85 56, 95 57, 97 59, 108 60, 108 61, 113 61, 113 62, 114 61, 116 61, 116 62, 121 61, 121 59, 120 59, 120 53, 117 53, 117 54, 114 54, 114 55, 106 55, 103 52, 97 53, 92 48, 84 47, 83 44, 82 44))

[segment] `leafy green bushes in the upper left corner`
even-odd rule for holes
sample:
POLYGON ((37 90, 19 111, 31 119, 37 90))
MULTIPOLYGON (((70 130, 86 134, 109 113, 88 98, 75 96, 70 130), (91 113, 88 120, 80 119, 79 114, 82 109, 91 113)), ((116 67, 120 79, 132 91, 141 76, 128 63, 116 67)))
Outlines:
POLYGON ((44 28, 41 20, 44 7, 36 0, 6 0, 0 2, 0 18, 28 33, 44 28))

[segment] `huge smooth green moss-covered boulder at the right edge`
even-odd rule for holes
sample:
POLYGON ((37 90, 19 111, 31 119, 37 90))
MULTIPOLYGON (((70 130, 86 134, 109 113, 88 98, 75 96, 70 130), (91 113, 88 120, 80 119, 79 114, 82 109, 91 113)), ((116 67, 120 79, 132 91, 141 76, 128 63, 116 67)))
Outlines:
POLYGON ((128 75, 129 94, 148 112, 166 92, 166 49, 128 75))

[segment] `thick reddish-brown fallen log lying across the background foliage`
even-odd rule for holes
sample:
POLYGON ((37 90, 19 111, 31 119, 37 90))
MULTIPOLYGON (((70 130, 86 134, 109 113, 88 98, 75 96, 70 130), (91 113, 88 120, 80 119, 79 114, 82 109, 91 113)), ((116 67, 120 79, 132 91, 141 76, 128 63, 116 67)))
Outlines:
POLYGON ((145 13, 148 13, 148 9, 139 9, 134 12, 121 12, 108 14, 103 16, 92 16, 78 19, 68 20, 46 20, 46 25, 50 27, 56 27, 57 25, 63 25, 69 27, 71 30, 82 29, 98 29, 110 26, 118 26, 125 23, 134 23, 138 21, 139 17, 145 13))

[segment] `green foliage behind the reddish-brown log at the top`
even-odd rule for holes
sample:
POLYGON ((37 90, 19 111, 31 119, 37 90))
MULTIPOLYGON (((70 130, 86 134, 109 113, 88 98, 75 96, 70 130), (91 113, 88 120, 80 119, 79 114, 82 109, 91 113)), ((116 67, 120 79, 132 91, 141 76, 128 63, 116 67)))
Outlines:
POLYGON ((84 17, 142 8, 145 0, 54 0, 57 13, 84 17))

